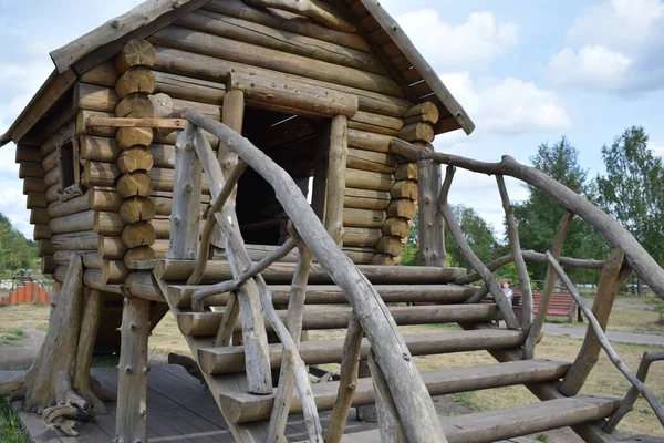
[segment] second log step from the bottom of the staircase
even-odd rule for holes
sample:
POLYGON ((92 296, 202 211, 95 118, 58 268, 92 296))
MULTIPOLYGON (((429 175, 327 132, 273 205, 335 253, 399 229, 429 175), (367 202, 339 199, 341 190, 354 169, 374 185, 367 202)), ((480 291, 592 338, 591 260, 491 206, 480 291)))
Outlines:
MULTIPOLYGON (((422 373, 422 379, 430 395, 444 395, 558 380, 564 377, 569 368, 569 362, 522 360, 474 368, 427 371, 422 373)), ((329 411, 334 408, 339 382, 312 384, 311 389, 319 411, 329 411)), ((220 395, 224 415, 231 423, 269 419, 273 401, 273 395, 255 395, 241 390, 222 392, 220 395)), ((353 406, 373 403, 374 390, 371 378, 360 379, 353 396, 353 406)), ((291 413, 298 414, 301 412, 302 405, 299 399, 293 398, 291 413)))

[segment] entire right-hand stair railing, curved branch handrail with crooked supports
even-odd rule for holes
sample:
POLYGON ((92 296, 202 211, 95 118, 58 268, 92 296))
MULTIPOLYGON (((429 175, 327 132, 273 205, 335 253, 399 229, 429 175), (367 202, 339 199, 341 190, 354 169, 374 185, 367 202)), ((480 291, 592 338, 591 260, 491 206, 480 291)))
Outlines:
MULTIPOLYGON (((645 251, 639 241, 636 241, 636 239, 611 216, 588 202, 585 198, 575 194, 568 187, 563 186, 540 171, 527 165, 522 165, 509 156, 504 156, 500 163, 485 163, 457 155, 436 153, 430 145, 426 148, 422 148, 396 138, 392 141, 391 148, 395 153, 401 154, 409 161, 418 162, 419 172, 422 173, 421 181, 422 178, 426 181, 429 177, 439 177, 439 173, 432 174, 432 168, 439 168, 439 165, 443 164, 447 165, 445 182, 443 183, 438 194, 438 207, 427 207, 426 205, 424 207, 421 206, 421 219, 434 220, 436 219, 436 215, 430 214, 430 212, 439 210, 440 216, 445 219, 449 233, 461 250, 464 258, 474 268, 476 274, 459 277, 455 280, 456 284, 469 284, 479 279, 485 282, 485 286, 479 288, 478 291, 466 302, 478 302, 490 293, 498 303, 505 317, 507 327, 510 329, 521 328, 528 333, 528 338, 523 346, 523 358, 531 359, 533 358, 535 347, 538 338, 541 334, 541 330, 547 317, 547 311, 551 302, 556 280, 558 277, 560 277, 588 318, 590 324, 583 342, 583 348, 579 352, 579 356, 577 357, 577 360, 572 364, 570 371, 560 383, 558 388, 559 391, 564 395, 575 395, 579 393, 590 371, 596 362, 601 348, 604 350, 611 362, 619 369, 619 371, 621 371, 621 373, 633 387, 627 396, 624 399, 622 406, 606 423, 604 430, 606 432, 611 432, 613 429, 615 429, 616 423, 622 419, 626 411, 631 409, 635 396, 639 393, 645 398, 657 415, 660 422, 664 425, 664 409, 658 402, 656 395, 643 383, 650 362, 661 360, 663 356, 644 356, 644 361, 646 361, 646 363, 644 363, 646 364, 645 369, 640 369, 639 374, 634 374, 611 347, 604 332, 606 322, 609 320, 609 315, 611 313, 611 308, 613 306, 613 300, 615 299, 621 286, 632 272, 632 269, 634 269, 636 274, 639 274, 639 276, 649 284, 649 286, 660 298, 664 299, 664 270, 645 251), (449 204, 447 203, 449 188, 452 186, 457 167, 475 173, 496 176, 498 189, 502 200, 502 207, 506 214, 507 234, 511 254, 501 257, 489 265, 483 264, 477 255, 473 251, 461 231, 458 222, 454 216, 453 210, 449 207, 449 204), (521 250, 518 226, 513 216, 507 188, 505 186, 505 176, 518 178, 528 185, 536 187, 537 189, 549 195, 551 198, 553 198, 553 200, 558 202, 566 208, 566 213, 558 226, 551 248, 546 254, 521 250), (424 214, 423 210, 425 210, 424 214), (429 214, 426 214, 426 210, 428 210, 429 214), (571 226, 575 215, 580 216, 594 229, 602 233, 609 243, 615 248, 605 261, 561 257, 567 231, 571 226), (526 259, 540 262, 544 261, 549 264, 544 289, 540 302, 541 305, 539 307, 537 317, 535 318, 532 316, 532 291, 530 288, 528 270, 526 268, 526 259), (516 265, 523 292, 523 320, 521 324, 519 324, 513 317, 511 307, 507 302, 505 292, 494 274, 494 271, 500 267, 512 261, 516 265), (573 267, 603 269, 598 286, 598 295, 595 297, 595 302, 592 310, 585 305, 585 301, 564 272, 561 264, 571 265, 573 267)), ((435 195, 435 181, 429 183, 421 183, 421 186, 430 186, 432 189, 428 190, 428 194, 435 195)), ((426 226, 424 229, 425 230, 421 230, 421 233, 426 233, 426 226)), ((424 237, 424 235, 421 235, 421 237, 424 237)), ((428 238, 432 238, 432 236, 428 236, 428 238)), ((423 247, 427 250, 444 250, 444 245, 421 245, 421 248, 423 247)))

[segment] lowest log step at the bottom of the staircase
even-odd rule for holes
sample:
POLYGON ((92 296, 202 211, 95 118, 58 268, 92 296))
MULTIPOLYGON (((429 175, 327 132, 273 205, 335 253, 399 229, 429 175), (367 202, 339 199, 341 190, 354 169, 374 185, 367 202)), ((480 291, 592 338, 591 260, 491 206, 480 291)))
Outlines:
POLYGON ((498 411, 442 416, 449 443, 488 443, 497 440, 590 423, 610 416, 622 398, 581 395, 523 404, 498 411))

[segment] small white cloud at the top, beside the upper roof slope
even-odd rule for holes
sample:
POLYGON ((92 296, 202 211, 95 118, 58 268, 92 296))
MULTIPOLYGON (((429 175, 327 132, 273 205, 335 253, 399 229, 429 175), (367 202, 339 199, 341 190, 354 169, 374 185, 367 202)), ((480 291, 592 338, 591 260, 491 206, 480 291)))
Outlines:
POLYGON ((456 27, 435 9, 406 12, 397 21, 436 70, 486 64, 517 43, 517 25, 498 21, 490 11, 473 12, 456 27))

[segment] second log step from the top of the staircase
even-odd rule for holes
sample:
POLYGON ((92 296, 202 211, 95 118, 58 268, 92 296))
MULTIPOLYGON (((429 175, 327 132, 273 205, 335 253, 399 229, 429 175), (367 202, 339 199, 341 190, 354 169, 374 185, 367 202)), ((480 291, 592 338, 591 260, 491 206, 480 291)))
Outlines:
MULTIPOLYGON (((194 292, 205 286, 168 286, 168 299, 178 308, 189 308, 194 292)), ((386 303, 432 302, 461 303, 477 291, 474 286, 459 285, 375 285, 383 301, 386 303)), ((274 305, 288 306, 290 286, 270 286, 274 305)), ((220 293, 206 299, 206 306, 226 306, 228 293, 220 293)), ((307 305, 347 303, 347 299, 338 286, 310 285, 307 287, 307 305)))

